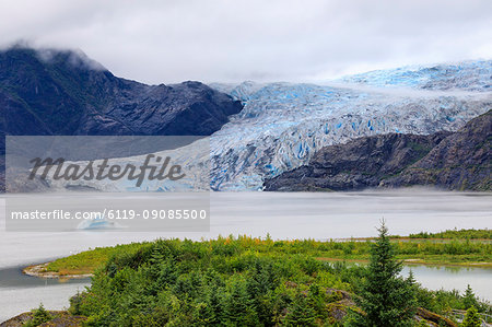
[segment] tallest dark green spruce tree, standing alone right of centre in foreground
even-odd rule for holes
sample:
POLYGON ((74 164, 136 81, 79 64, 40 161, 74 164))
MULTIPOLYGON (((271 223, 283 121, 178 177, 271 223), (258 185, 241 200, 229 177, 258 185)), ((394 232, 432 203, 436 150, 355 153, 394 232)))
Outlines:
POLYGON ((371 246, 371 259, 356 303, 362 312, 353 311, 351 326, 412 326, 415 313, 414 288, 399 277, 402 262, 396 259, 388 229, 382 222, 379 236, 371 246))

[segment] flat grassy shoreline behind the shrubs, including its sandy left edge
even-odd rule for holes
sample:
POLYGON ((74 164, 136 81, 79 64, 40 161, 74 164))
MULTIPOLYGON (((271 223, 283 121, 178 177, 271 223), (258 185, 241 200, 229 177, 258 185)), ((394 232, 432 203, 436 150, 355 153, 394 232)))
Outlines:
MULTIPOLYGON (((396 258, 406 266, 429 266, 429 267, 457 267, 457 268, 481 268, 491 269, 492 261, 487 249, 490 248, 492 235, 489 230, 455 230, 441 232, 443 235, 452 234, 450 238, 431 237, 413 238, 409 236, 389 236, 389 242, 394 243, 401 253, 396 258), (447 233, 447 234, 446 234, 447 233), (459 237, 458 237, 459 236, 459 237), (479 237, 477 237, 479 236, 479 237), (484 236, 484 237, 482 237, 484 236), (396 238, 398 237, 398 238, 396 238), (466 237, 466 238, 465 238, 466 237), (471 237, 476 242, 470 242, 471 237), (396 238, 396 240, 395 240, 396 238), (433 240, 429 242, 429 240, 433 240), (421 246, 423 245, 423 246, 421 246)), ((438 235, 441 236, 441 235, 438 235)), ((231 242, 230 237, 209 242, 231 242)), ((233 237, 234 240, 234 237, 233 237)), ((237 238, 243 240, 243 238, 237 238)), ((261 252, 271 250, 270 246, 286 247, 284 252, 297 253, 298 246, 304 247, 301 252, 321 261, 347 261, 367 262, 370 257, 371 241, 373 237, 344 238, 344 241, 272 241, 269 236, 265 240, 257 237, 245 237, 248 247, 257 247, 261 252), (358 242, 364 240, 365 242, 358 242), (347 243, 349 242, 349 243, 347 243), (274 244, 273 244, 274 243, 274 244), (297 245, 300 243, 301 245, 297 245), (323 246, 321 246, 323 245, 323 246), (291 248, 292 247, 292 248, 291 248)), ((198 242, 198 241, 197 241, 198 242)), ((207 242, 207 241, 200 241, 207 242)), ((44 262, 32 264, 22 269, 27 276, 44 279, 84 279, 94 276, 94 271, 115 254, 115 252, 136 252, 141 249, 143 243, 118 244, 115 246, 96 247, 72 254, 66 257, 48 258, 44 262)), ((246 246, 246 245, 245 245, 246 246)))

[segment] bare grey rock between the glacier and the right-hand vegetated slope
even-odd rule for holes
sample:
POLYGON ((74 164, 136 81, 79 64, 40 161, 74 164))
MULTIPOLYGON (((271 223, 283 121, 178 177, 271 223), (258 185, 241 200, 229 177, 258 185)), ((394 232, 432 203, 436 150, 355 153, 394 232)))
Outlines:
POLYGON ((308 165, 265 182, 265 190, 358 190, 376 187, 380 180, 417 162, 446 137, 380 135, 345 144, 323 148, 308 165))

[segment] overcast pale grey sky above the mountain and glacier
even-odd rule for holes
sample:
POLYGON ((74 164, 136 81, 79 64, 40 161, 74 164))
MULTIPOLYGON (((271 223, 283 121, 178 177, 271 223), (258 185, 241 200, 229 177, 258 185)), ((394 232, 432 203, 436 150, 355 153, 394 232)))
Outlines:
POLYGON ((0 0, 0 45, 19 39, 148 83, 309 81, 492 59, 492 1, 0 0))

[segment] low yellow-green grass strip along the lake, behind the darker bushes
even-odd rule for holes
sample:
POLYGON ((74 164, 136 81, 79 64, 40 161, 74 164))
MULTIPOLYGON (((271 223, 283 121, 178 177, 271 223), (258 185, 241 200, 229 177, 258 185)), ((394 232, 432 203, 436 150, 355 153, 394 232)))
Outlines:
MULTIPOLYGON (((437 234, 414 234, 427 235, 427 237, 415 237, 410 235, 409 240, 391 236, 391 242, 397 249, 397 258, 408 260, 413 264, 432 265, 473 265, 492 267, 492 244, 490 242, 478 242, 472 240, 492 240, 489 230, 461 230, 446 231, 437 234), (436 236, 435 236, 436 235, 436 236), (441 236, 446 236, 449 240, 441 236), (468 238, 467 238, 468 237, 468 238), (423 238, 423 240, 420 240, 423 238)), ((232 236, 227 237, 233 240, 232 236)), ((224 240, 224 238, 221 238, 224 240)), ((314 240, 277 241, 270 238, 250 238, 243 236, 241 240, 253 240, 242 243, 248 250, 258 253, 278 253, 283 255, 307 255, 318 260, 355 260, 366 261, 370 258, 371 244, 374 240, 348 240, 319 242, 314 240)), ((150 243, 133 243, 118 245, 115 247, 99 247, 83 252, 73 256, 57 259, 50 262, 46 269, 48 271, 63 275, 92 273, 97 267, 103 266, 107 260, 119 253, 132 255, 140 250, 142 246, 150 243)))

